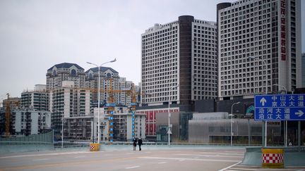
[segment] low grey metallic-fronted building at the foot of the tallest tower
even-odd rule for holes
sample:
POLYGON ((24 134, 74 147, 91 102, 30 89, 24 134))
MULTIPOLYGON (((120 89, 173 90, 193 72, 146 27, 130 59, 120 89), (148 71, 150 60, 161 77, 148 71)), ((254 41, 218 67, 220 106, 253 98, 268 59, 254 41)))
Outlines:
MULTIPOLYGON (((270 139, 268 145, 282 145, 277 144, 282 141, 281 129, 281 122, 275 122, 273 125, 268 125, 268 135, 270 139)), ((234 122, 232 123, 232 134, 233 144, 249 144, 250 139, 251 145, 260 145, 262 137, 261 122, 256 122, 253 119, 234 119, 234 122)), ((230 119, 201 119, 194 117, 192 120, 189 120, 189 142, 205 144, 230 144, 230 141, 230 119)))

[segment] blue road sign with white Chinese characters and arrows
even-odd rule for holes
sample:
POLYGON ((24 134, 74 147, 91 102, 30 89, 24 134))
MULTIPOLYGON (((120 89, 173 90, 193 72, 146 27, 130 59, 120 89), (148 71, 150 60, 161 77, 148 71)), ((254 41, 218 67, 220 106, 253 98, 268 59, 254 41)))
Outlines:
POLYGON ((254 120, 305 120, 305 94, 254 96, 254 120))

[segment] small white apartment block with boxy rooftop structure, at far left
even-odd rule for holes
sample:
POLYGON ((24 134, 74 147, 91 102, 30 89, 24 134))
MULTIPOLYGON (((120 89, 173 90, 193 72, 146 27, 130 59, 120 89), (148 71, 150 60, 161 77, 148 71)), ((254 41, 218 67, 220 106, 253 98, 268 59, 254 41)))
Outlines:
POLYGON ((21 108, 49 111, 49 91, 46 85, 35 85, 33 91, 23 91, 20 99, 21 108))

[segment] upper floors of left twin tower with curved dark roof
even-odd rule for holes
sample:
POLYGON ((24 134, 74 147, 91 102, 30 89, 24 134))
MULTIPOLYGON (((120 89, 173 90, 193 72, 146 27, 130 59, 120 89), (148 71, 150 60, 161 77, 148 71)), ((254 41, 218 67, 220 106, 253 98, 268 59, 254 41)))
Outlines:
POLYGON ((75 63, 59 63, 47 70, 47 90, 62 87, 63 81, 72 81, 74 87, 85 88, 85 70, 75 63))

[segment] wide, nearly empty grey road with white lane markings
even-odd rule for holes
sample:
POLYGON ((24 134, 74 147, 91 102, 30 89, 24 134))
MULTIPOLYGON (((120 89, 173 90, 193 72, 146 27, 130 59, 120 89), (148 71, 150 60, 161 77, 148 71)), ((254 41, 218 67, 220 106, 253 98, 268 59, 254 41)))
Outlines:
POLYGON ((265 170, 239 165, 243 158, 244 148, 41 151, 0 154, 0 170, 265 170))

